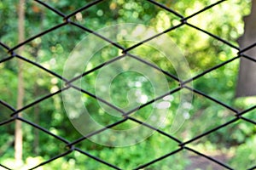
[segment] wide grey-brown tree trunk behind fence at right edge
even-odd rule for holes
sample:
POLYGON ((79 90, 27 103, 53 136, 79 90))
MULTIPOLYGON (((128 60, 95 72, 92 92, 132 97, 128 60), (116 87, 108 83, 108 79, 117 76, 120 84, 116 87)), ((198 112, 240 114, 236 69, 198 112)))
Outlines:
MULTIPOLYGON (((256 42, 256 0, 252 0, 251 14, 244 17, 244 25, 244 34, 238 40, 241 49, 256 42)), ((256 48, 251 48, 243 54, 256 59, 256 48)), ((256 63, 241 58, 236 97, 253 95, 256 95, 256 63)))

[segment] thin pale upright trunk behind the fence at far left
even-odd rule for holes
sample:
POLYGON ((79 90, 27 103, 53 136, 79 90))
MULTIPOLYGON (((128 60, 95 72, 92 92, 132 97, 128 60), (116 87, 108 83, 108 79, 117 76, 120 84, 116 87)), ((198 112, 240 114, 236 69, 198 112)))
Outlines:
MULTIPOLYGON (((25 0, 20 0, 19 11, 18 11, 18 33, 19 43, 25 40, 25 0)), ((21 54, 23 47, 18 49, 18 54, 21 54)), ((24 98, 24 85, 23 85, 23 65, 22 61, 18 60, 18 94, 17 94, 17 109, 22 108, 24 98)), ((19 113, 19 116, 22 116, 19 113)), ((22 162, 22 126, 21 122, 15 121, 15 161, 20 164, 22 162)))

